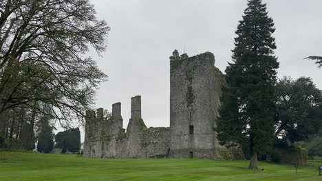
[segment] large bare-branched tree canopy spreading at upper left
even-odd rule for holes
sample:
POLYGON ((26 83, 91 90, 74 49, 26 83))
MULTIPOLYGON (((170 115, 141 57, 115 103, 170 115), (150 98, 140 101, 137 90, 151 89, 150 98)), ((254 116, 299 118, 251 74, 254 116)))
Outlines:
POLYGON ((60 120, 83 116, 107 80, 85 53, 106 49, 109 27, 88 0, 0 2, 0 114, 29 106, 60 120))

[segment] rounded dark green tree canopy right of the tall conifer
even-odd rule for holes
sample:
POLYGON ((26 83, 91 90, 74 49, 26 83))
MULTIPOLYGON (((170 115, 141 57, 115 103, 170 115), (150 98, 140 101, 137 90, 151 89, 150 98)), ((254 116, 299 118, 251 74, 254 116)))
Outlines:
POLYGON ((321 128, 322 90, 316 88, 310 77, 292 80, 283 77, 277 84, 279 136, 294 141, 308 141, 321 128))

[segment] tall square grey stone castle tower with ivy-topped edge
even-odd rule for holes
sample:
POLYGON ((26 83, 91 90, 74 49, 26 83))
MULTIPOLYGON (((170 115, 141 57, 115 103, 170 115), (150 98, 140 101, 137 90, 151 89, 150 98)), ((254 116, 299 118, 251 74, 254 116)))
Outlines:
POLYGON ((215 128, 224 75, 213 53, 170 57, 171 158, 215 158, 215 128))

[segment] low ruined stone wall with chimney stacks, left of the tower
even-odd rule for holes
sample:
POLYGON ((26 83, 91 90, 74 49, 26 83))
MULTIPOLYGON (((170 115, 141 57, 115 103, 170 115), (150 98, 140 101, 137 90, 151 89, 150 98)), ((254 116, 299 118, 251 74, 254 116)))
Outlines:
POLYGON ((113 104, 109 119, 103 109, 87 112, 84 156, 88 158, 164 158, 170 128, 147 128, 141 117, 141 97, 131 98, 131 119, 122 129, 121 104, 113 104))

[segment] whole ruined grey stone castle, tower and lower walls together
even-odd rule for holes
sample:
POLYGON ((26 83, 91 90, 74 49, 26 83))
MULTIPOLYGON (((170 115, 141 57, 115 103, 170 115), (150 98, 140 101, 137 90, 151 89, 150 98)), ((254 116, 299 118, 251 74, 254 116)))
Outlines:
POLYGON ((88 111, 84 156, 89 158, 233 158, 239 150, 217 143, 215 117, 224 75, 215 68, 213 53, 189 58, 178 51, 170 57, 170 128, 147 128, 141 117, 141 97, 131 98, 131 119, 122 129, 121 104, 88 111))

